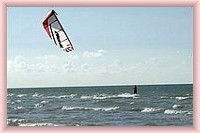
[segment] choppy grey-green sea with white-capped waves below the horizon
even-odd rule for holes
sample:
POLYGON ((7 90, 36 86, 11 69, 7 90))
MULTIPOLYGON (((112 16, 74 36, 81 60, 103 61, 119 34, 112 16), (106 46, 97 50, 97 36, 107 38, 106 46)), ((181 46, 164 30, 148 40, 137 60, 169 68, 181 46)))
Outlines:
POLYGON ((193 85, 8 88, 8 126, 192 126, 193 85))

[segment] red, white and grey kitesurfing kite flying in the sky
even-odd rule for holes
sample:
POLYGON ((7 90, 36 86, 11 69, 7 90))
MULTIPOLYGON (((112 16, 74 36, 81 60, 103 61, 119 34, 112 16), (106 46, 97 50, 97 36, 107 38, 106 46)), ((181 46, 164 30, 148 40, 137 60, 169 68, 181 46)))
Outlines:
POLYGON ((54 10, 51 10, 45 17, 43 27, 51 40, 61 49, 66 52, 74 50, 74 47, 58 20, 57 13, 54 10))

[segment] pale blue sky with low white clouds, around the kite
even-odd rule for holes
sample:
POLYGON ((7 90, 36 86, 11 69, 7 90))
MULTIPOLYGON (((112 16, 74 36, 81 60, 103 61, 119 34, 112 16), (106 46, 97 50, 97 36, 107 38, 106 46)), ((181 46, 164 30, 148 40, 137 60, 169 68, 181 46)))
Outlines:
POLYGON ((8 7, 7 86, 193 83, 192 7, 8 7), (54 9, 75 50, 42 27, 54 9))

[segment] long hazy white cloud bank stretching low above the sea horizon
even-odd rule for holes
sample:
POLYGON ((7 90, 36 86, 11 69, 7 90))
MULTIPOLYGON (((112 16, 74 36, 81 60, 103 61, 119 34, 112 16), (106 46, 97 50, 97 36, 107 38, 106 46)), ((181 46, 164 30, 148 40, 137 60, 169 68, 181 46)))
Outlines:
POLYGON ((127 62, 110 56, 106 58, 105 53, 105 50, 100 49, 95 52, 67 54, 67 56, 45 55, 33 58, 16 56, 8 59, 9 84, 18 85, 24 81, 27 85, 33 86, 36 83, 38 85, 156 83, 167 81, 167 78, 173 79, 176 77, 174 73, 181 75, 182 70, 189 75, 192 69, 186 67, 187 60, 152 56, 127 62), (175 61, 178 63, 174 63, 175 61))

